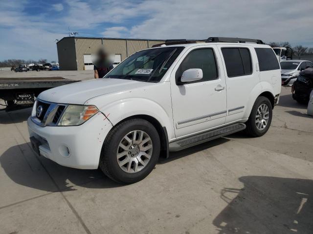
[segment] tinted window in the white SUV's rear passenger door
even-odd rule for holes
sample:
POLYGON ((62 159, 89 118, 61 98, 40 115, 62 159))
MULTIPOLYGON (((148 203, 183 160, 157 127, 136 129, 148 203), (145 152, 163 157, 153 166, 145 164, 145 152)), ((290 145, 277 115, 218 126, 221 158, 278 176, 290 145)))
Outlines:
POLYGON ((251 56, 247 48, 222 48, 228 77, 252 74, 251 56))

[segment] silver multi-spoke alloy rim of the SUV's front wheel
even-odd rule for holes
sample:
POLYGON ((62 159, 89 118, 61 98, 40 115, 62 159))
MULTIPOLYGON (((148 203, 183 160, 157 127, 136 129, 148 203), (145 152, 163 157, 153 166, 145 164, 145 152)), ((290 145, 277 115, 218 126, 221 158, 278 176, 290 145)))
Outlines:
POLYGON ((120 141, 116 158, 119 167, 127 173, 141 171, 152 156, 152 140, 144 131, 135 130, 120 141))

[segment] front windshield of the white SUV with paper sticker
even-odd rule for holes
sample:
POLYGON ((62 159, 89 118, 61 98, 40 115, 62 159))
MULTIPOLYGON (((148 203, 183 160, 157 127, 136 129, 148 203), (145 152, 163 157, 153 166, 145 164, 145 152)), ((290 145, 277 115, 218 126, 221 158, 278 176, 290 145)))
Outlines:
POLYGON ((142 50, 125 59, 104 78, 159 82, 184 47, 142 50))

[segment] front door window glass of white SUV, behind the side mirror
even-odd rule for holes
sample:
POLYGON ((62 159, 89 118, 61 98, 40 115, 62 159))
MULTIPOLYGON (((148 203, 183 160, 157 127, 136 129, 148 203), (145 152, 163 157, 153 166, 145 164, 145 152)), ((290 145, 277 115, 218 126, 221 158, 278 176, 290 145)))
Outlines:
POLYGON ((203 78, 195 82, 217 79, 217 67, 213 49, 191 51, 180 64, 176 72, 176 80, 178 81, 182 73, 191 68, 200 68, 203 72, 203 78))

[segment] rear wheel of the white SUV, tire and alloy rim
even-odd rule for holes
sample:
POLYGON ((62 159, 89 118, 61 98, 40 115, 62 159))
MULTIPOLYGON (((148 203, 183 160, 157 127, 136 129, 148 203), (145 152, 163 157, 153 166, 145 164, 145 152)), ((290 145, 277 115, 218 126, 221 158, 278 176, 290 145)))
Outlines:
POLYGON ((266 134, 272 121, 272 115, 272 105, 269 99, 262 96, 258 97, 254 102, 249 119, 246 121, 246 133, 251 137, 261 137, 266 134), (260 112, 260 110, 262 111, 260 112), (259 115, 259 113, 262 115, 259 115))

